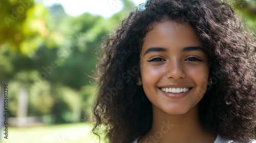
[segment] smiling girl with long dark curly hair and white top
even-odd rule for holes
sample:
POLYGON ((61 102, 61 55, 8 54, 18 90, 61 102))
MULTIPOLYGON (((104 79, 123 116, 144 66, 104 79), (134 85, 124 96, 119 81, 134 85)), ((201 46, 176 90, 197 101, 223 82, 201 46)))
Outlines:
POLYGON ((217 0, 149 0, 103 45, 96 135, 256 142, 255 36, 217 0))

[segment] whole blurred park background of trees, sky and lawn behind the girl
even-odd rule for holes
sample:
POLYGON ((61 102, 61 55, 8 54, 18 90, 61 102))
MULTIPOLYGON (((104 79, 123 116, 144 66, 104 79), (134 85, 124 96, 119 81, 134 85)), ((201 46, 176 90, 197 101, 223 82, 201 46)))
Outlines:
MULTIPOLYGON (((100 44, 143 1, 59 2, 0 1, 0 142, 98 142, 89 121, 100 44)), ((228 3, 255 33, 256 1, 228 3)))

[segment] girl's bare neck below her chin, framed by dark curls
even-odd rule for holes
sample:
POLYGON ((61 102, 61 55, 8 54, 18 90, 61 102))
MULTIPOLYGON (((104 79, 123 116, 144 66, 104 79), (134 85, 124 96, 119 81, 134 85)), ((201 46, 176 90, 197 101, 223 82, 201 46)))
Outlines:
POLYGON ((170 115, 153 105, 151 130, 139 142, 214 142, 216 135, 206 130, 198 115, 198 105, 185 114, 170 115), (207 139, 208 138, 208 139, 207 139), (209 140, 209 141, 207 141, 209 140))

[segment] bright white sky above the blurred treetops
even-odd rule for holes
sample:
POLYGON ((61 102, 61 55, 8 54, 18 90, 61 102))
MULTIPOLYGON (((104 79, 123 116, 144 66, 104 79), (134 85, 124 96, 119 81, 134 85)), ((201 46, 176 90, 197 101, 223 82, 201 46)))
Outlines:
MULTIPOLYGON (((139 5, 145 0, 132 0, 139 5)), ((119 12, 123 5, 120 0, 43 0, 46 6, 61 4, 66 13, 70 16, 78 16, 84 12, 90 12, 103 17, 111 17, 119 12)))

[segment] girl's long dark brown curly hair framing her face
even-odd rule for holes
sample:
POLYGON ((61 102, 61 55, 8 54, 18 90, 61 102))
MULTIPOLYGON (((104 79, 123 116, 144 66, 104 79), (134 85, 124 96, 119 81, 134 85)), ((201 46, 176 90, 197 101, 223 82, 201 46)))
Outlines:
POLYGON ((152 23, 166 17, 191 25, 206 49, 213 84, 199 103, 202 124, 232 140, 255 138, 255 34, 217 0, 148 0, 122 21, 98 59, 93 133, 109 142, 131 142, 151 129, 152 104, 136 85, 139 55, 152 23))

